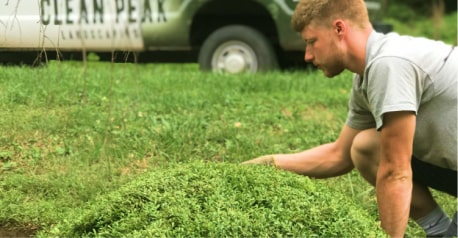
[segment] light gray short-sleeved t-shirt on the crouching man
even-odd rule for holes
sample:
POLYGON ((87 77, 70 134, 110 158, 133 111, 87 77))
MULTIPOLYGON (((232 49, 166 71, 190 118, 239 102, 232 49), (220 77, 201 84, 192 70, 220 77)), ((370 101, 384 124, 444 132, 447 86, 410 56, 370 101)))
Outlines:
MULTIPOLYGON (((456 47, 455 47, 456 48, 456 47)), ((373 32, 364 76, 355 74, 347 125, 383 126, 383 114, 416 114, 413 155, 457 170, 458 49, 442 42, 373 32)))

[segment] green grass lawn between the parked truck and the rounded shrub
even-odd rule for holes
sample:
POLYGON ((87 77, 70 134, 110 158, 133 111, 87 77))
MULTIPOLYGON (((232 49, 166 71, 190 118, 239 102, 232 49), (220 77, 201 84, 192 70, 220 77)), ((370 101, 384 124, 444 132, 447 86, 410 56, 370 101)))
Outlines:
MULTIPOLYGON (((351 84, 349 73, 230 76, 202 73, 194 64, 1 69, 0 231, 24 235, 56 232, 56 224, 96 212, 88 208, 95 198, 135 187, 142 174, 158 176, 170 165, 232 166, 330 142, 345 120, 351 84)), ((266 172, 256 176, 263 180, 266 172)), ((348 206, 377 219, 374 191, 355 172, 319 186, 336 188, 354 202, 348 206)), ((453 199, 440 202, 454 212, 453 199)), ((409 234, 422 233, 412 224, 409 234)))

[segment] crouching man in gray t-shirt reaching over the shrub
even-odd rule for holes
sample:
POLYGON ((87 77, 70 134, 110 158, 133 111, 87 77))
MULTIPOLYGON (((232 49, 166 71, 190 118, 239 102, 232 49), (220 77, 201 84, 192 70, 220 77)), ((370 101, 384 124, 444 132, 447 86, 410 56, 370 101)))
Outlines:
POLYGON ((375 186, 382 228, 403 237, 409 217, 428 236, 456 236, 430 188, 457 194, 458 50, 373 30, 363 0, 301 0, 292 24, 305 61, 327 77, 354 73, 349 112, 333 143, 244 164, 315 178, 356 168, 375 186))

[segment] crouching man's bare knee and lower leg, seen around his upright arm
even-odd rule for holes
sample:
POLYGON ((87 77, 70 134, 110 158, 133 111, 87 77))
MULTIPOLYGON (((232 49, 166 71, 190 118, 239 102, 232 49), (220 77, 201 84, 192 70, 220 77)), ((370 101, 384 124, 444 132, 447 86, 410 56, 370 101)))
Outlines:
MULTIPOLYGON (((376 185, 378 164, 380 161, 380 136, 375 129, 369 129, 360 132, 353 140, 351 148, 351 157, 355 168, 359 171, 361 176, 373 186, 376 185)), ((412 202, 410 205, 410 217, 420 223, 427 217, 427 222, 431 219, 440 220, 443 217, 443 224, 446 226, 450 223, 450 218, 440 209, 436 201, 431 195, 431 192, 426 186, 413 183, 412 202), (439 210, 438 210, 439 209, 439 210), (445 216, 445 217, 444 217, 445 216), (445 219, 444 219, 445 218, 445 219), (421 220, 423 219, 423 220, 421 220), (448 219, 448 220, 447 220, 448 219), (448 223, 447 223, 448 222, 448 223)), ((420 224, 428 235, 436 233, 437 229, 431 228, 431 224, 423 222, 420 224), (428 231, 432 230, 432 231, 428 231)), ((442 231, 443 228, 439 228, 442 231)))

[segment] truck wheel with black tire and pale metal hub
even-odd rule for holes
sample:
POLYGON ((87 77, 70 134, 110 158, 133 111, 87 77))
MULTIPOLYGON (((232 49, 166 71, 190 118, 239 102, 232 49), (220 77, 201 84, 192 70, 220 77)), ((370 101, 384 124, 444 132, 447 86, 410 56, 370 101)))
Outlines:
POLYGON ((204 71, 268 71, 277 68, 272 44, 260 32, 246 26, 226 26, 213 32, 203 43, 198 62, 204 71))

